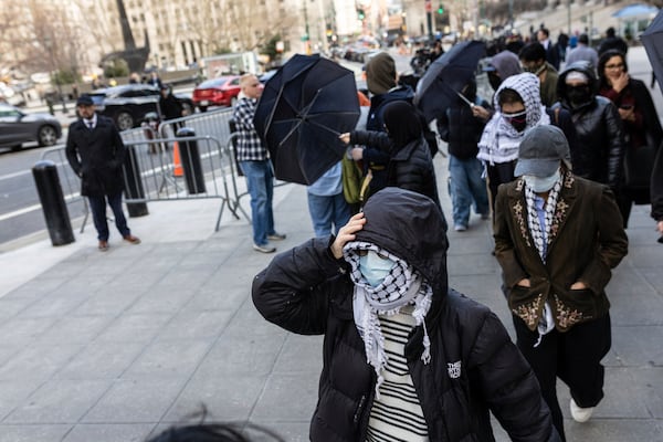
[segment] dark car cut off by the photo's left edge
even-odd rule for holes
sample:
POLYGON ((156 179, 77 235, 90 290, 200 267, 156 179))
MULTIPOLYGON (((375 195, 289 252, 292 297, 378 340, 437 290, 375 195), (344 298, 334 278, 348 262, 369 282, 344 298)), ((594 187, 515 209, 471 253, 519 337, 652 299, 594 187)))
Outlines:
POLYGON ((62 136, 62 126, 51 114, 25 114, 0 103, 0 146, 20 150, 23 143, 52 146, 62 136))

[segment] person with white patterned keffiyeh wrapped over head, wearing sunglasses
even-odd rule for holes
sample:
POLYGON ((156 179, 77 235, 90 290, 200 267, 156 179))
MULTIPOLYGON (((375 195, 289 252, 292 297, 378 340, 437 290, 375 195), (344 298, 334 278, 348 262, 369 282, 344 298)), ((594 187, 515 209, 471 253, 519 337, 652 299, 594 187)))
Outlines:
POLYGON ((484 161, 491 207, 499 185, 514 180, 518 145, 525 133, 538 125, 552 124, 575 145, 576 129, 567 110, 554 110, 541 104, 539 81, 530 73, 513 75, 495 93, 495 114, 486 124, 478 141, 477 158, 484 161))

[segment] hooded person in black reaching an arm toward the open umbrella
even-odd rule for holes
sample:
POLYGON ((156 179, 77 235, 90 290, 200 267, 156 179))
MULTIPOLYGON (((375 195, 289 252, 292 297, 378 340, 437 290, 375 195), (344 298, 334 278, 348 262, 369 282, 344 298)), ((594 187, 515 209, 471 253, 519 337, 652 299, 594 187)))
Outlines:
POLYGON ((387 131, 355 130, 341 134, 340 139, 388 154, 386 186, 423 193, 440 207, 435 168, 417 109, 392 102, 385 106, 382 118, 387 131))

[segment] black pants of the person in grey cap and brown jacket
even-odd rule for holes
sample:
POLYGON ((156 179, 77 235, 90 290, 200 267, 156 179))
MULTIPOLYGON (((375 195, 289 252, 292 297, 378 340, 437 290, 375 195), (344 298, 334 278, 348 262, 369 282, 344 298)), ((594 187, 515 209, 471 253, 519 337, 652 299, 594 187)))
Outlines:
POLYGON ((565 440, 556 380, 559 378, 569 387, 578 407, 594 407, 600 402, 604 375, 601 359, 611 346, 610 315, 577 324, 566 333, 554 329, 536 348, 538 332, 530 332, 517 316, 514 326, 517 346, 532 366, 552 413, 552 423, 565 440))

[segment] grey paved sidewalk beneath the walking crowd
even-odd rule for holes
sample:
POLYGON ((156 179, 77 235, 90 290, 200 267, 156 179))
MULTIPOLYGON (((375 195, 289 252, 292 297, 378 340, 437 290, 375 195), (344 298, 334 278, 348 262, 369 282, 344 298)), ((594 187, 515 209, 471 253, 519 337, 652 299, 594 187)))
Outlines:
MULTIPOLYGON (((446 158, 435 165, 449 214, 446 158)), ((274 208, 287 233, 280 251, 313 235, 304 187, 277 187, 274 208)), ((272 255, 251 249, 245 220, 225 213, 214 232, 215 200, 149 211, 129 219, 140 245, 113 230, 101 253, 88 224, 73 244, 43 240, 0 254, 0 442, 141 441, 202 403, 211 419, 307 440, 322 339, 291 335, 254 309, 251 281, 272 255)), ((630 253, 608 290, 613 345, 591 421, 569 419, 559 387, 569 441, 663 440, 663 246, 648 211, 634 208, 630 253)), ((487 304, 513 334, 490 222, 473 215, 469 231, 449 236, 450 285, 487 304)))

